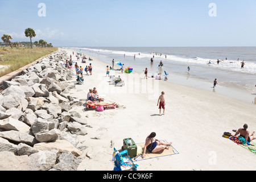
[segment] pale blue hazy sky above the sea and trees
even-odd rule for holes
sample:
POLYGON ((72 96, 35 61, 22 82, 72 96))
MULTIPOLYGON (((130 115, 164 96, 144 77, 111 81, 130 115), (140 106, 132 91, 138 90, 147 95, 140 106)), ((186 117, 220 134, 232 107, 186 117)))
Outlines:
POLYGON ((255 0, 0 0, 0 19, 57 47, 256 46, 255 0))

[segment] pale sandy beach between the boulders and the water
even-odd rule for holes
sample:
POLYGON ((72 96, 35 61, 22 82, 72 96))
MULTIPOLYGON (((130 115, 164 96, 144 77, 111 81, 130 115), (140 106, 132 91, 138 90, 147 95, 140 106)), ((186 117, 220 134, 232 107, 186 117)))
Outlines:
MULTIPOLYGON (((61 49, 65 49, 68 56, 77 52, 61 49)), ((78 170, 112 171, 113 147, 120 150, 125 138, 143 143, 153 131, 155 138, 172 142, 179 154, 135 162, 139 165, 138 171, 255 170, 255 154, 222 135, 225 131, 234 134, 232 130, 244 123, 250 133, 255 131, 256 105, 207 90, 146 80, 143 73, 136 72, 110 71, 110 75, 120 75, 125 80, 124 86, 114 86, 106 76, 106 65, 112 65, 112 60, 106 64, 91 58, 93 61, 86 59, 86 63, 77 61, 83 69, 92 63, 93 70, 92 75, 84 72, 84 84, 76 85, 71 96, 85 103, 89 89, 95 87, 104 102, 116 102, 120 107, 102 112, 86 110, 85 104, 78 107, 76 111, 91 126, 87 135, 78 136, 80 143, 88 146, 83 155, 89 154, 78 170), (165 115, 159 115, 156 106, 162 91, 165 92, 165 115)), ((76 61, 76 57, 73 60, 76 61)), ((73 70, 75 72, 75 68, 73 70)))

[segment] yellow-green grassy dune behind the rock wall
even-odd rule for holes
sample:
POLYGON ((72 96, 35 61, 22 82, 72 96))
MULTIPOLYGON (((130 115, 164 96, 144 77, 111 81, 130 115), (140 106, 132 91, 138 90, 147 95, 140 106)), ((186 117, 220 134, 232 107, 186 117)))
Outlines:
POLYGON ((57 51, 57 47, 38 47, 38 48, 13 48, 0 47, 0 65, 6 68, 0 69, 0 77, 22 68, 27 64, 46 56, 51 52, 57 51))

